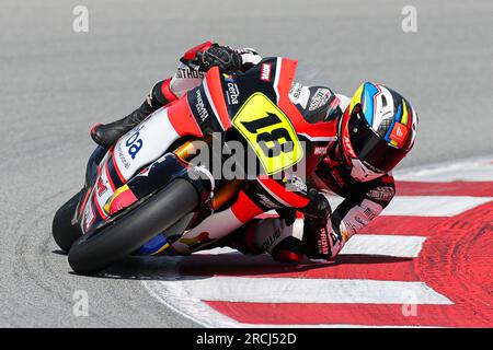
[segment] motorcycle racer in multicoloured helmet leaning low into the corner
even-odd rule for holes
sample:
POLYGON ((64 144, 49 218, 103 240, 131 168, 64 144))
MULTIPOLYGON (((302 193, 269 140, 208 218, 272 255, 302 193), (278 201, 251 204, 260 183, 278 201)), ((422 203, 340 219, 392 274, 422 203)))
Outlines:
MULTIPOLYGON (((149 114, 200 84, 209 68, 246 71, 261 60, 250 48, 236 50, 210 42, 194 47, 181 58, 172 78, 153 85, 139 108, 117 121, 96 125, 91 137, 110 148, 149 114)), ((298 212, 279 209, 280 218, 254 219, 220 238, 198 238, 200 244, 186 248, 177 245, 175 253, 230 246, 246 254, 270 253, 284 262, 299 262, 303 255, 330 259, 391 201, 395 192, 391 171, 411 150, 416 136, 417 116, 410 103, 399 93, 370 82, 363 83, 352 98, 326 86, 295 82, 289 98, 307 121, 337 122, 336 141, 319 150, 323 160, 307 178, 309 205, 298 212), (344 198, 333 212, 326 198, 329 190, 344 198), (303 220, 296 220, 301 215, 303 220)))

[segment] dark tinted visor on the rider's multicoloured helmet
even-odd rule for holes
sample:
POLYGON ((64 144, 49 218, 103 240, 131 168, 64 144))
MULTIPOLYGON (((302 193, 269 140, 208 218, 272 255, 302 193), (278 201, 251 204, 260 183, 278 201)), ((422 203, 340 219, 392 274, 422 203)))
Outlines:
POLYGON ((359 108, 349 117, 348 133, 357 158, 372 171, 390 172, 405 156, 370 128, 359 108))

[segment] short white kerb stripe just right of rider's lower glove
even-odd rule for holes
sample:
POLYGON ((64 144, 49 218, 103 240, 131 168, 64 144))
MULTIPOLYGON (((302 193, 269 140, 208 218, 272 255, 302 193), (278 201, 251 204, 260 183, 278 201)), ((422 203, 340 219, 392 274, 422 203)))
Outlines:
POLYGON ((356 234, 341 250, 344 254, 386 255, 415 258, 426 237, 385 234, 356 234))

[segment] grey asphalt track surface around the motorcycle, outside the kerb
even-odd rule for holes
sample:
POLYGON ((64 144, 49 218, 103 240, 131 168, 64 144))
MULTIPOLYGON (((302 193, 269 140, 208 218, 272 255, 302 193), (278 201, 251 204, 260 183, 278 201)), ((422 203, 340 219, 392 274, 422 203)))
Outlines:
POLYGON ((160 261, 78 277, 50 237, 56 209, 82 184, 91 126, 138 106, 188 47, 213 39, 302 58, 346 94, 362 80, 393 86, 421 117, 409 167, 492 153, 492 16, 490 0, 2 0, 0 326, 199 326, 142 287, 160 261), (72 31, 78 4, 89 8, 89 33, 72 31), (408 4, 416 33, 401 30, 408 4), (73 316, 78 290, 89 317, 73 316))

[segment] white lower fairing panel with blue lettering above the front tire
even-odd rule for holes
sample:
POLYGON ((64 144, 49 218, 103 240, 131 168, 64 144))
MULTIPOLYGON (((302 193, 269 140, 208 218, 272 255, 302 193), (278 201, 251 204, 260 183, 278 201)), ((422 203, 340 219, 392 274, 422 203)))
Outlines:
MULTIPOLYGON (((183 103, 174 103, 158 109, 122 137, 115 148, 108 150, 101 160, 95 174, 94 165, 91 170, 88 168, 88 174, 91 176, 87 176, 87 196, 81 202, 78 220, 82 232, 90 233, 103 225, 110 219, 104 206, 115 190, 130 179, 146 176, 150 166, 161 162, 159 158, 165 153, 169 147, 187 135, 203 136, 190 114, 190 108, 183 106, 183 103), (186 112, 188 112, 188 118, 186 112), (184 126, 184 121, 188 121, 190 125, 184 126), (149 163, 151 164, 146 167, 149 163)), ((94 164, 95 159, 101 158, 101 150, 96 151, 92 156, 91 164, 94 164)), ((170 166, 170 172, 173 170, 174 167, 170 166)), ((162 185, 164 182, 165 178, 161 178, 160 184, 162 185)), ((137 191, 150 192, 153 188, 158 188, 158 185, 156 180, 146 182, 145 186, 147 187, 137 188, 137 191)))

